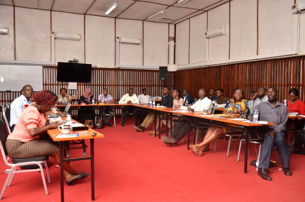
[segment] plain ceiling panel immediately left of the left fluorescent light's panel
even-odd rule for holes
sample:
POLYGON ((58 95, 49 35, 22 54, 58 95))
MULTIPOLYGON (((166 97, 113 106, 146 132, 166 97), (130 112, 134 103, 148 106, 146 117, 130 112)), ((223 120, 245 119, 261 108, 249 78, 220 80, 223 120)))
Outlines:
POLYGON ((54 11, 84 14, 94 0, 55 0, 54 11))

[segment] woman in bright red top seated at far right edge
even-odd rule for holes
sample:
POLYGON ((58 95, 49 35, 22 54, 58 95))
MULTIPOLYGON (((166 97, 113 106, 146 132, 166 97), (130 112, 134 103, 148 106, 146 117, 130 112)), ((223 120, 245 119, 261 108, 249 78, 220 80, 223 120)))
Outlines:
MULTIPOLYGON (((291 88, 288 92, 289 101, 288 101, 288 112, 297 112, 300 115, 305 115, 305 104, 302 100, 298 99, 299 91, 296 88, 291 88)), ((287 128, 294 128, 295 125, 293 123, 287 123, 287 128)), ((296 124, 296 128, 302 129, 304 127, 304 118, 298 118, 298 122, 296 124)), ((293 147, 290 143, 294 137, 294 130, 287 131, 287 144, 290 147, 293 147)))

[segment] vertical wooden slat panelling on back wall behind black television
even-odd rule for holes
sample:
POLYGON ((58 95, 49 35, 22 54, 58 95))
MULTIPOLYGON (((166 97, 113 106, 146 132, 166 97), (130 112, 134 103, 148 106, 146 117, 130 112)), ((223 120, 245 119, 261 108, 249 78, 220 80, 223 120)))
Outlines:
MULTIPOLYGON (((127 69, 105 69, 92 68, 91 83, 77 83, 77 90, 69 90, 68 82, 56 81, 57 67, 43 67, 43 88, 49 89, 59 95, 60 88, 67 88, 68 94, 82 96, 86 88, 91 88, 95 101, 102 94, 103 88, 108 88, 108 92, 117 102, 128 92, 128 88, 134 88, 136 95, 142 94, 142 89, 147 88, 150 96, 162 96, 163 82, 159 80, 157 70, 127 70, 127 69)), ((165 86, 173 90, 174 73, 167 73, 165 86)), ((22 88, 22 86, 20 87, 22 88)), ((2 105, 5 102, 12 102, 20 96, 20 92, 0 92, 0 106, 2 117, 2 105)), ((75 102, 75 101, 74 101, 75 102)), ((118 111, 117 113, 120 113, 118 111)), ((76 115, 76 111, 72 112, 76 115)))

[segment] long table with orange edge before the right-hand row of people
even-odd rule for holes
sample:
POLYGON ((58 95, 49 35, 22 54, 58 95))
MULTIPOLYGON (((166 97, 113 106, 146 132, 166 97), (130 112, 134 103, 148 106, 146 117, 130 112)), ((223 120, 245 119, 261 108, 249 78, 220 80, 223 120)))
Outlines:
MULTIPOLYGON (((215 118, 215 117, 210 117, 210 116, 204 116, 202 114, 202 112, 180 112, 180 111, 173 111, 172 108, 156 108, 156 107, 150 107, 150 106, 143 106, 143 105, 134 105, 140 108, 145 108, 145 109, 150 109, 150 110, 156 110, 159 113, 163 112, 163 113, 167 113, 169 116, 172 116, 172 114, 179 114, 179 115, 183 115, 186 117, 186 119, 188 119, 188 146, 190 144, 190 123, 191 123, 191 118, 195 119, 195 127, 196 127, 196 120, 197 119, 205 119, 205 120, 210 120, 210 123, 206 123, 208 125, 213 125, 216 127, 221 127, 221 128, 226 128, 229 126, 224 125, 223 123, 227 123, 227 124, 234 124, 234 125, 238 125, 238 126, 243 126, 244 128, 236 128, 236 130, 239 131, 243 131, 245 132, 245 164, 244 164, 244 172, 247 173, 247 164, 248 164, 248 142, 249 139, 251 137, 249 137, 249 128, 251 127, 257 127, 257 126, 264 126, 264 125, 274 125, 274 123, 270 123, 268 122, 267 124, 256 124, 256 123, 249 123, 249 122, 242 122, 242 121, 235 121, 235 120, 231 120, 233 118, 227 118, 227 117, 221 117, 221 118, 215 118)), ((160 138, 160 133, 159 133, 159 138, 160 138)), ((261 139, 261 138, 260 138, 261 139)), ((251 139, 253 140, 253 139, 251 139)), ((194 144, 195 144, 195 138, 194 138, 194 144)), ((188 148, 189 149, 189 148, 188 148)))

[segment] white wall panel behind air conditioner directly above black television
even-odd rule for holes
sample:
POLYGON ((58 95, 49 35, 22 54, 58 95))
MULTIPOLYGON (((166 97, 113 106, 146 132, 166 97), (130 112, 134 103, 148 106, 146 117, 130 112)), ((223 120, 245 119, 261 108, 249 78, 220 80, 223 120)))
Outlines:
POLYGON ((52 11, 52 31, 81 34, 81 41, 55 39, 56 65, 73 58, 85 63, 84 15, 52 11))

